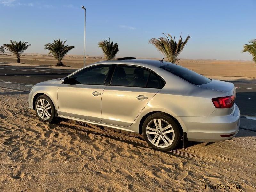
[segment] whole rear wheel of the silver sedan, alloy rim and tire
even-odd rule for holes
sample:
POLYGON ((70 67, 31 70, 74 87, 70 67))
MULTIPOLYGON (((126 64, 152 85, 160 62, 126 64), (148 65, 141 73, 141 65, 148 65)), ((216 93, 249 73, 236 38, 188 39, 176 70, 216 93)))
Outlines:
POLYGON ((142 133, 148 145, 159 151, 169 151, 180 142, 180 130, 175 121, 165 113, 154 113, 146 118, 142 133))

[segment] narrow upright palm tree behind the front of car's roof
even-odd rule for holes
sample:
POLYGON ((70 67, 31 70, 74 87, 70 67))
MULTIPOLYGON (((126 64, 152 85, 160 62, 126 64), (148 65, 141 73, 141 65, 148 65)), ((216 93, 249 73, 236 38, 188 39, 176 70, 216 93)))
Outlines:
POLYGON ((109 38, 109 41, 107 41, 107 39, 104 41, 100 41, 98 43, 98 46, 102 49, 107 60, 114 59, 116 56, 116 53, 119 51, 118 44, 117 43, 113 44, 113 41, 111 41, 110 43, 110 38, 109 38))

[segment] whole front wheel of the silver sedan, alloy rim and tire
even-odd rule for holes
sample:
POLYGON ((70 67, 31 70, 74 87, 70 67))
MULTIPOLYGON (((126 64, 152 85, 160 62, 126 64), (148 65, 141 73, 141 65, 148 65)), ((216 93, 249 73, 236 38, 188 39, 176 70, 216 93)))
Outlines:
POLYGON ((55 120, 55 108, 52 100, 46 95, 39 96, 35 101, 36 115, 46 122, 55 120))

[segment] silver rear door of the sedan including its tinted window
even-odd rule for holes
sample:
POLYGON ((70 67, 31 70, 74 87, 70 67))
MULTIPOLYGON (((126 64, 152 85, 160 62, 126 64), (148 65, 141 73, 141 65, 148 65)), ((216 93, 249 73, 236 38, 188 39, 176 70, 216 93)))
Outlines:
POLYGON ((148 69, 117 65, 102 95, 102 123, 130 126, 163 86, 164 81, 148 69))

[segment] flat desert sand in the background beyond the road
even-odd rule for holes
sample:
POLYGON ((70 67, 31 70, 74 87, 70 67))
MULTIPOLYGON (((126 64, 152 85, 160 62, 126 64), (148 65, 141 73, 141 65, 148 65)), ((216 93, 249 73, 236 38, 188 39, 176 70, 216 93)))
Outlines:
MULTIPOLYGON (((102 57, 86 56, 86 64, 91 64, 98 61, 103 61, 102 57)), ((148 59, 148 58, 143 58, 148 59)), ((159 60, 159 58, 149 58, 159 60)), ((162 58, 160 58, 162 59, 162 58)), ((21 63, 36 65, 41 67, 51 66, 55 67, 56 60, 53 56, 46 54, 24 54, 20 59, 21 63)), ((15 63, 16 57, 12 54, 0 54, 0 62, 15 63)), ((62 60, 64 65, 70 66, 70 68, 83 67, 84 57, 79 55, 68 55, 62 60)), ((256 64, 253 61, 241 61, 241 60, 189 60, 180 59, 179 65, 189 68, 197 73, 205 76, 212 76, 215 79, 221 77, 232 77, 235 79, 256 80, 256 64)), ((62 67, 63 68, 63 67, 62 67)), ((65 69, 67 67, 64 67, 65 69)), ((233 80, 233 79, 232 79, 233 80)))

